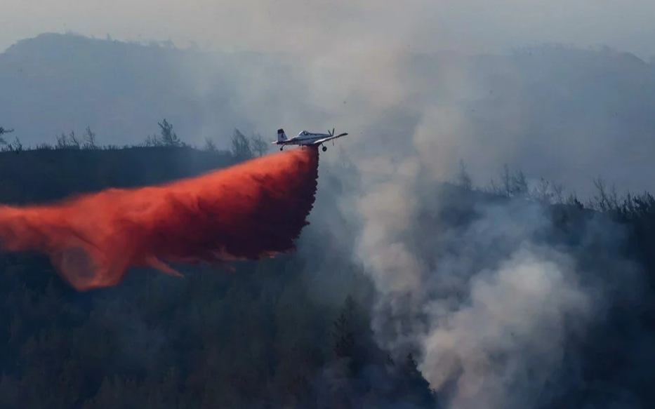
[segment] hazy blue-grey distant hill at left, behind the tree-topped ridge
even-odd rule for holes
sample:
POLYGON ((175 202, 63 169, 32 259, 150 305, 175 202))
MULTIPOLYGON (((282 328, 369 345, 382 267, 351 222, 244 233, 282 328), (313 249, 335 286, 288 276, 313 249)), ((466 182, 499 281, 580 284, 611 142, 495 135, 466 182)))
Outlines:
POLYGON ((0 54, 0 121, 26 145, 86 126, 102 142, 124 145, 157 133, 163 118, 189 142, 211 136, 226 144, 235 126, 249 123, 230 105, 229 79, 216 83, 211 68, 211 78, 198 75, 208 64, 194 51, 42 34, 0 54), (204 98, 206 86, 216 93, 204 98))

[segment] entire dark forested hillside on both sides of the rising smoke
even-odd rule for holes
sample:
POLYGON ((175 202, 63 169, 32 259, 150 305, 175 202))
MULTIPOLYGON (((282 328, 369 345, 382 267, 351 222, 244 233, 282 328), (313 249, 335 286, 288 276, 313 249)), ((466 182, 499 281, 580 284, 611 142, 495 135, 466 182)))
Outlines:
MULTIPOLYGON (((101 148, 89 142, 93 138, 79 146, 66 138, 39 149, 11 145, 0 153, 0 200, 35 203, 105 187, 159 183, 255 155, 253 141, 238 131, 232 151, 221 152, 211 143, 204 150, 185 147, 170 130, 161 126, 161 137, 143 144, 159 146, 101 148)), ((357 234, 355 226, 333 211, 339 197, 359 188, 359 170, 348 161, 322 166, 317 206, 298 253, 242 262, 233 273, 180 267, 186 277, 178 279, 133 270, 116 288, 77 293, 43 256, 4 255, 0 406, 449 405, 456 386, 430 388, 424 375, 435 368, 419 371, 417 362, 425 361, 421 345, 378 347, 371 329, 373 318, 381 319, 373 307, 378 295, 355 258, 340 253, 354 246, 357 234), (322 217, 329 217, 329 229, 322 217)), ((447 259, 453 267, 459 260, 467 271, 493 269, 527 237, 535 245, 569 254, 582 283, 602 282, 602 314, 584 331, 575 316, 565 319, 566 335, 557 344, 546 344, 548 349, 562 348, 564 355, 557 359, 562 365, 549 369, 545 383, 538 375, 541 365, 531 368, 533 375, 509 377, 519 382, 512 393, 530 393, 528 401, 543 408, 651 401, 655 199, 649 194, 621 199, 599 181, 597 196, 583 206, 575 196, 567 199, 550 189, 531 192, 521 173, 503 175, 493 189, 475 188, 465 172, 454 184, 425 185, 416 198, 420 211, 411 220, 413 253, 428 265, 447 259), (490 220, 490 212, 501 229, 479 227, 481 220, 490 220), (528 214, 533 220, 535 212, 545 222, 520 227, 522 217, 528 214), (636 276, 641 280, 638 290, 630 285, 636 276)), ((453 273, 435 269, 429 274, 423 277, 426 288, 453 273)), ((463 295, 453 290, 442 294, 442 300, 451 302, 457 297, 463 295)), ((539 308, 548 310, 555 298, 549 295, 539 308)), ((408 319, 396 313, 387 323, 397 331, 408 319)), ((524 345, 527 351, 529 347, 524 345)), ((516 364, 516 353, 505 351, 508 368, 516 364)), ((493 368, 504 368, 501 345, 498 354, 493 368)), ((521 358, 529 360, 527 355, 521 358)))

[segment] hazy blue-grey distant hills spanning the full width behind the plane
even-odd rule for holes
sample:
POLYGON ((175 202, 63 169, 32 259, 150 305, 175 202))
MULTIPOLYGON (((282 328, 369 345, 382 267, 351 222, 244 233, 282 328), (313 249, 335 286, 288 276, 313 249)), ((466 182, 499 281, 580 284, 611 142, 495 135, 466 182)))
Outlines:
MULTIPOLYGON (((322 82, 357 85, 359 71, 339 61, 330 64, 343 65, 343 77, 333 79, 293 55, 41 34, 0 54, 0 126, 15 128, 25 145, 86 126, 101 143, 125 145, 157 133, 166 118, 186 142, 201 146, 211 137, 225 149, 233 128, 264 134, 288 126, 293 133, 336 122, 357 136, 344 143, 379 155, 404 152, 425 122, 435 142, 420 150, 440 152, 447 141, 448 156, 435 160, 454 168, 464 159, 481 184, 487 180, 479 177, 508 163, 581 194, 597 176, 632 191, 655 189, 655 69, 634 55, 542 46, 509 55, 399 57, 394 75, 406 100, 376 111, 376 94, 322 82), (444 111, 431 119, 442 107, 461 117, 444 111)), ((384 73, 372 87, 383 93, 384 73)))

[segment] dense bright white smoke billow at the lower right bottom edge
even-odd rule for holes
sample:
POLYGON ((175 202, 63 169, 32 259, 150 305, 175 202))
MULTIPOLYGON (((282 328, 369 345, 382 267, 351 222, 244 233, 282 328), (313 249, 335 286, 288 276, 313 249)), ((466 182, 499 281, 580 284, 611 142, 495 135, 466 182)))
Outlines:
POLYGON ((566 257, 552 257, 521 248, 500 268, 472 277, 468 302, 454 310, 428 304, 421 369, 437 390, 455 380, 452 408, 543 403, 541 391, 564 363, 569 327, 584 328, 593 311, 566 257))

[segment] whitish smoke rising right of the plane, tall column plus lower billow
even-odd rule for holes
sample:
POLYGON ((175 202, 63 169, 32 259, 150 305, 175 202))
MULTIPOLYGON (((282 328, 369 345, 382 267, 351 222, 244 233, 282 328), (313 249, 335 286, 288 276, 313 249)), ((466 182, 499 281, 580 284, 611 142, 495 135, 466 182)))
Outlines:
POLYGON ((416 154, 360 163, 356 253, 380 293, 373 330, 385 348, 418 346, 420 370, 450 408, 536 408, 567 339, 600 308, 597 288, 580 283, 569 255, 532 243, 549 223, 534 203, 482 204, 465 230, 416 228, 426 205, 440 207, 425 192, 446 180, 458 159, 447 143, 465 131, 452 107, 430 118, 440 120, 416 128, 416 154))

